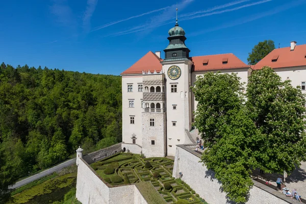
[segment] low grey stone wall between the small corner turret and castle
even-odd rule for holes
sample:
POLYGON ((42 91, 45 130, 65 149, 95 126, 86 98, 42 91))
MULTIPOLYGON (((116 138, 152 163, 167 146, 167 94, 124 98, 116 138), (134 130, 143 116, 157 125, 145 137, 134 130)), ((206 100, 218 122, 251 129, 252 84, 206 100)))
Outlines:
POLYGON ((106 147, 104 149, 100 149, 100 150, 91 152, 88 155, 84 155, 83 159, 88 164, 92 164, 96 161, 99 161, 99 160, 104 159, 106 157, 112 156, 112 155, 114 155, 118 152, 121 152, 122 151, 121 144, 122 144, 122 142, 120 142, 118 144, 114 144, 114 145, 109 146, 109 147, 106 147))

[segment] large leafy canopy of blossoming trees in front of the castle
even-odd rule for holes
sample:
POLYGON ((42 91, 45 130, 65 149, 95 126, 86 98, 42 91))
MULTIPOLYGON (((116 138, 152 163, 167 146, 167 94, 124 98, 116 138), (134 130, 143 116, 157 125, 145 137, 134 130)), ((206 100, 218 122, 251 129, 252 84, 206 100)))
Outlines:
POLYGON ((202 162, 215 171, 227 197, 245 202, 251 171, 290 172, 305 161, 304 95, 265 67, 249 77, 246 94, 236 74, 206 73, 193 88, 194 125, 207 148, 202 162))

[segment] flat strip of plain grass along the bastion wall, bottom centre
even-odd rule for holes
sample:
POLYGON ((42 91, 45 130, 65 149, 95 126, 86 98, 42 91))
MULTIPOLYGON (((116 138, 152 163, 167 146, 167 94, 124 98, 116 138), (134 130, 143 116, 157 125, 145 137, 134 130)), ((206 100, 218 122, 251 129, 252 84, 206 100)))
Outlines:
POLYGON ((148 204, 167 203, 150 182, 141 182, 135 185, 148 204))

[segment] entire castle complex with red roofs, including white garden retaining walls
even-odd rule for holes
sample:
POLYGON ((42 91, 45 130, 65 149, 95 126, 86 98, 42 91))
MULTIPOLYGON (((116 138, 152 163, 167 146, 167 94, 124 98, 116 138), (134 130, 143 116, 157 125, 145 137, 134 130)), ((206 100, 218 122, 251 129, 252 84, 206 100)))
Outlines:
MULTIPOLYGON (((197 101, 191 87, 196 78, 210 71, 237 73, 246 85, 253 70, 270 66, 282 80, 291 80, 294 87, 300 86, 306 93, 306 44, 296 45, 292 41, 290 47, 274 49, 252 66, 233 54, 190 57, 183 28, 176 22, 168 33, 169 44, 164 49, 164 59, 161 52, 148 52, 121 73, 122 143, 84 158, 83 149, 77 150, 76 197, 82 203, 151 203, 137 184, 112 186, 89 165, 120 151, 144 154, 147 158, 175 157, 172 178, 180 177, 208 203, 228 203, 226 194, 220 190, 220 182, 213 176, 214 172, 199 163, 201 155, 194 151, 198 132, 192 127, 192 112, 196 111, 197 101), (205 175, 207 172, 210 176, 205 175)), ((293 203, 281 192, 258 181, 252 182, 248 204, 293 203)), ((157 192, 154 188, 152 190, 157 192)))

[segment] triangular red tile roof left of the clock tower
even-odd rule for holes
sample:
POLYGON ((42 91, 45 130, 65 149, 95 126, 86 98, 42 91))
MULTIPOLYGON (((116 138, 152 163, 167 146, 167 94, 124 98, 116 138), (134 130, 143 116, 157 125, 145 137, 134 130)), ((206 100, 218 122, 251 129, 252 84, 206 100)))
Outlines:
POLYGON ((160 72, 162 70, 162 59, 151 51, 145 54, 140 60, 133 64, 129 69, 126 69, 121 74, 139 74, 142 73, 142 70, 154 72, 160 72))

